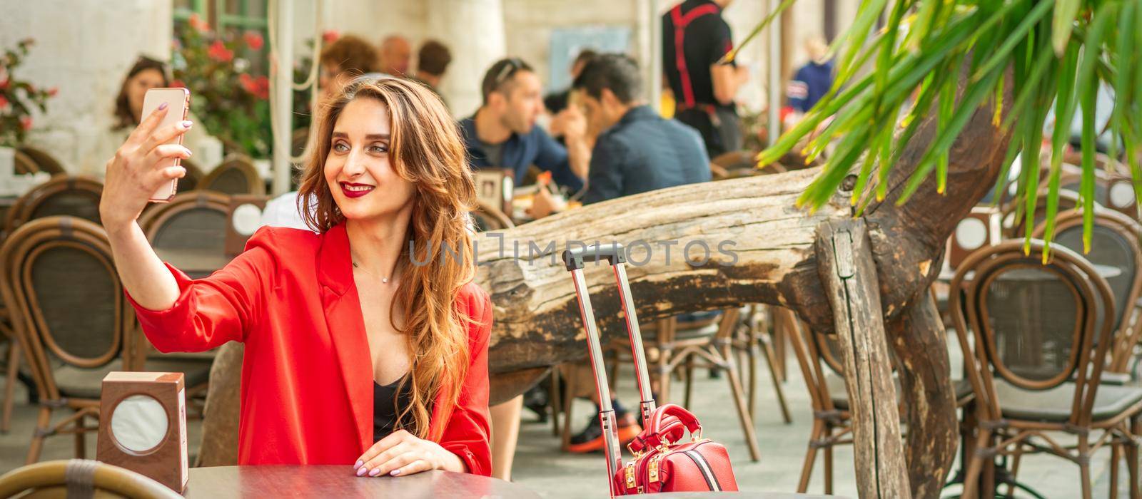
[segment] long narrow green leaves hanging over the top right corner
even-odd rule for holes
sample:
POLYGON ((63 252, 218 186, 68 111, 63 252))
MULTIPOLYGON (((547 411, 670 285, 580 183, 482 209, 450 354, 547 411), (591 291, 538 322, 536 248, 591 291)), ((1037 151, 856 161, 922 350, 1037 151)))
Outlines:
MULTIPOLYGON (((791 3, 785 1, 780 8, 791 3)), ((814 130, 823 130, 807 141, 805 154, 817 157, 830 144, 835 149, 799 204, 822 206, 851 170, 859 171, 853 197, 859 210, 874 198, 883 199, 887 172, 922 117, 928 115, 938 122, 934 139, 898 203, 907 202, 932 174, 936 175, 938 190, 947 194, 943 187, 952 142, 976 109, 994 106, 995 123, 1013 136, 996 188, 1005 189, 1010 163, 1023 152, 1016 180, 1019 197, 1026 203, 1023 214, 1030 222, 1045 182, 1049 240, 1062 153, 1078 113, 1084 153, 1079 195, 1088 248, 1095 191, 1094 137, 1102 132, 1095 130, 1093 120, 1100 85, 1112 88, 1115 93, 1109 128, 1117 139, 1112 140, 1116 150, 1111 157, 1123 157, 1129 165, 1135 194, 1142 195, 1142 56, 1135 50, 1142 47, 1142 0, 898 0, 885 30, 872 32, 872 22, 884 13, 885 3, 862 1, 853 25, 834 42, 839 63, 830 92, 758 156, 761 164, 772 163, 814 130), (970 64, 970 80, 955 99, 964 62, 970 64), (869 65, 870 71, 861 72, 869 65), (1002 108, 1005 89, 1014 96, 1008 109, 1002 108), (1048 138, 1046 178, 1040 179, 1043 128, 1052 107, 1057 125, 1048 138)), ((766 17, 749 38, 775 17, 766 17)), ((1030 237, 1034 223, 1026 226, 1030 237)))

